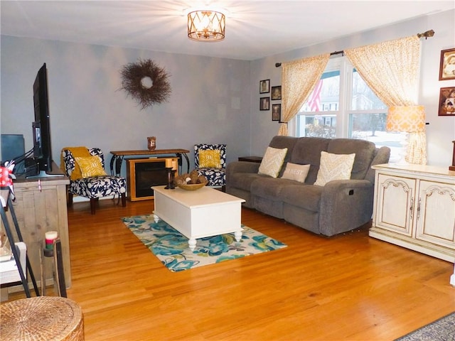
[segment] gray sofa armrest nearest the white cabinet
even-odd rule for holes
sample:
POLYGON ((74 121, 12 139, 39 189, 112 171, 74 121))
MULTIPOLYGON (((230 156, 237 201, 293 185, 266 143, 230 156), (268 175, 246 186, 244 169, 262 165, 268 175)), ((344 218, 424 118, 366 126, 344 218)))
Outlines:
POLYGON ((319 207, 321 234, 332 236, 365 224, 373 214, 374 185, 368 180, 333 180, 323 188, 319 207))

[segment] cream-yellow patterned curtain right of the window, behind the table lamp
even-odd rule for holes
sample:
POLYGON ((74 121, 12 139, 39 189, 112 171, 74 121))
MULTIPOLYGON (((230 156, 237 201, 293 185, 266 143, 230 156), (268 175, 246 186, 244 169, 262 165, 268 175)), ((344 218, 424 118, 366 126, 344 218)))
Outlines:
MULTIPOLYGON (((359 75, 388 107, 417 105, 420 39, 417 36, 344 50, 359 75)), ((427 163, 425 131, 409 134, 406 161, 427 163)))

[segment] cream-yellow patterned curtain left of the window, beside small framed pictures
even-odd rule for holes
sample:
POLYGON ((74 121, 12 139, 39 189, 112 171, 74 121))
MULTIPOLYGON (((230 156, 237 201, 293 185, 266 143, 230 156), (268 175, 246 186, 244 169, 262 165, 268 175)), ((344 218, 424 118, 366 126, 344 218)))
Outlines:
POLYGON ((282 124, 278 135, 287 136, 287 122, 299 112, 326 68, 330 53, 282 63, 282 124))

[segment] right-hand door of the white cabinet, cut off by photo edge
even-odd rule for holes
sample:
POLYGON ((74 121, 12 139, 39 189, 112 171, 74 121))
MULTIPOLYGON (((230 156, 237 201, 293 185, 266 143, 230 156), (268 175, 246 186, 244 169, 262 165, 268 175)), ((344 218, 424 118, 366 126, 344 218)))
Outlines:
POLYGON ((455 249, 455 185, 421 180, 417 239, 455 249))

